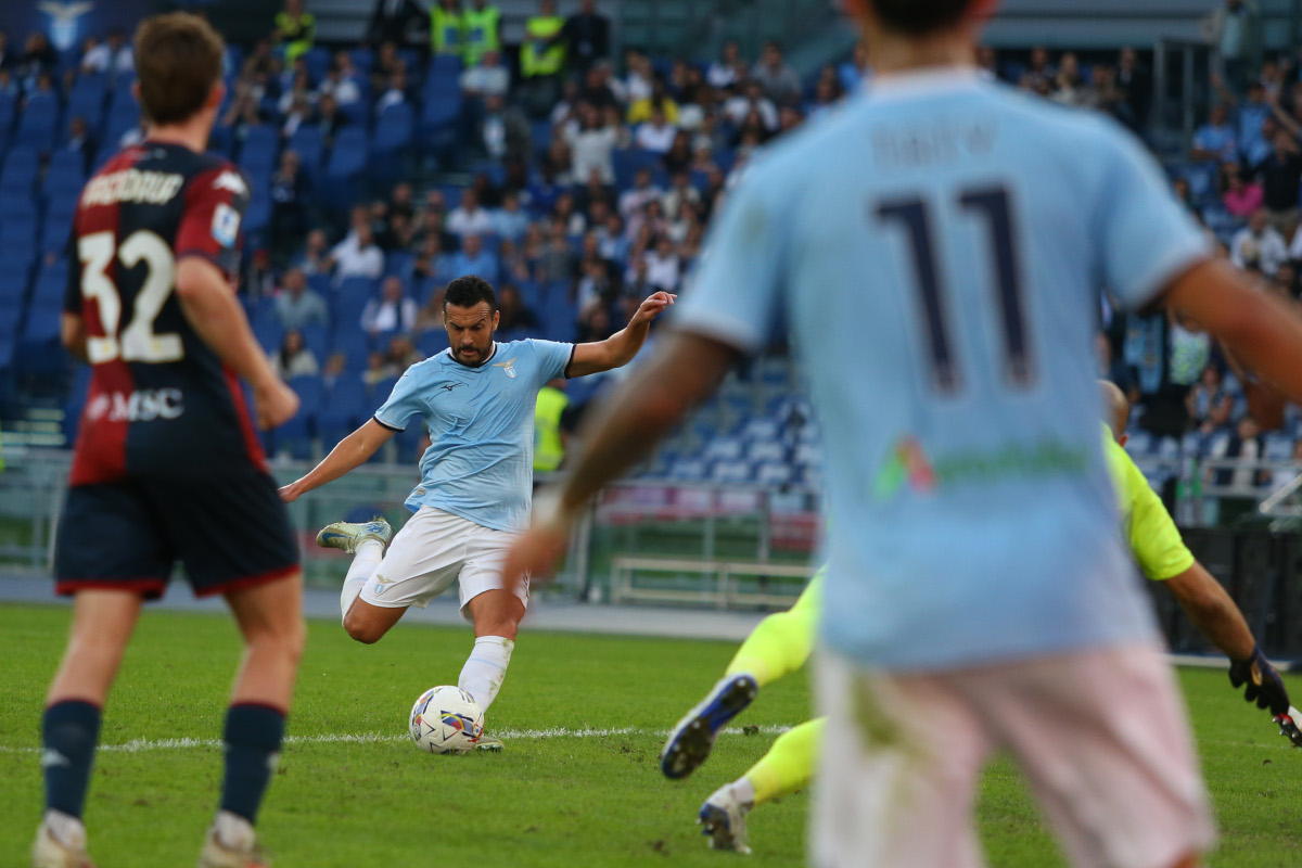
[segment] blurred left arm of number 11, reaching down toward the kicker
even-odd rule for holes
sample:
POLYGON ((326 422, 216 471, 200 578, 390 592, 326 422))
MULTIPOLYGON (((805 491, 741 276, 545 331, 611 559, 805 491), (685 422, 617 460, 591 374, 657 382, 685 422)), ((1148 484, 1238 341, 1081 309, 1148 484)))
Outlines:
POLYGON ((577 437, 583 446, 566 481, 534 498, 534 527, 512 547, 503 570, 506 582, 549 575, 583 505, 717 389, 737 357, 727 344, 690 333, 674 333, 658 347, 655 358, 585 420, 577 437))

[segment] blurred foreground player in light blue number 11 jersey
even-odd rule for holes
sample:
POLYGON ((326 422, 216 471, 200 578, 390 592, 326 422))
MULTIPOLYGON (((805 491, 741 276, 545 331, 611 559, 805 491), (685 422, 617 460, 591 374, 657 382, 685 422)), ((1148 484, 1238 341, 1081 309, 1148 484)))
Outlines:
POLYGON ((1213 828, 1117 531, 1094 311, 1101 289, 1168 305, 1294 401, 1302 320, 1208 258, 1120 126, 982 81, 990 0, 848 4, 874 81, 729 193, 676 333, 585 426, 506 575, 546 573, 583 504, 785 321, 837 517, 814 864, 982 864, 976 780, 1006 750, 1074 864, 1197 865, 1213 828))

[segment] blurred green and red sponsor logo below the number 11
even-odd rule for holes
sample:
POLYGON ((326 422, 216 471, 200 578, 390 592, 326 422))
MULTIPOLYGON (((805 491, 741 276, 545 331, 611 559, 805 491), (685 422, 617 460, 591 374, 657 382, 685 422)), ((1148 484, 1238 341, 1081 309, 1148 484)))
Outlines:
POLYGON ((999 449, 958 452, 928 457, 913 436, 901 437, 872 480, 872 496, 891 500, 905 485, 918 495, 939 488, 1006 479, 1042 479, 1081 474, 1088 467, 1088 453, 1056 439, 1038 444, 1009 442, 999 449))

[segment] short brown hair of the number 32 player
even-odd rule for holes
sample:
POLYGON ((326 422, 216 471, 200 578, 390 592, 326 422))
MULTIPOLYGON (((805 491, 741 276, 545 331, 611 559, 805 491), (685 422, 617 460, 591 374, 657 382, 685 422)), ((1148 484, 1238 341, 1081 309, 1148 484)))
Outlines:
POLYGON ((135 31, 141 107, 152 124, 194 117, 221 79, 225 43, 207 21, 187 12, 154 16, 135 31))

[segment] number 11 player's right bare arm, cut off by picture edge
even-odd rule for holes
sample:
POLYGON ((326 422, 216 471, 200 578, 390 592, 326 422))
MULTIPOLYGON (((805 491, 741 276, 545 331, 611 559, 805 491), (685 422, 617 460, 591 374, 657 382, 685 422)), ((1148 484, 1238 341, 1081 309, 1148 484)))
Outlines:
POLYGON ((1211 260, 1177 277, 1167 303, 1221 338, 1256 376, 1302 403, 1302 316, 1295 307, 1211 260))

